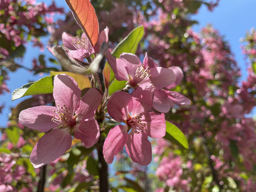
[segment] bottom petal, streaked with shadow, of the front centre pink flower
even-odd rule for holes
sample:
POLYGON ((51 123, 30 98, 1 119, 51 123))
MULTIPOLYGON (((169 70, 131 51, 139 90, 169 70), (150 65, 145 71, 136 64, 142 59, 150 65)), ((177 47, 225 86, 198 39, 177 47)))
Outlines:
POLYGON ((132 161, 140 165, 148 165, 152 159, 151 143, 145 132, 128 134, 128 141, 125 144, 127 154, 132 161))

